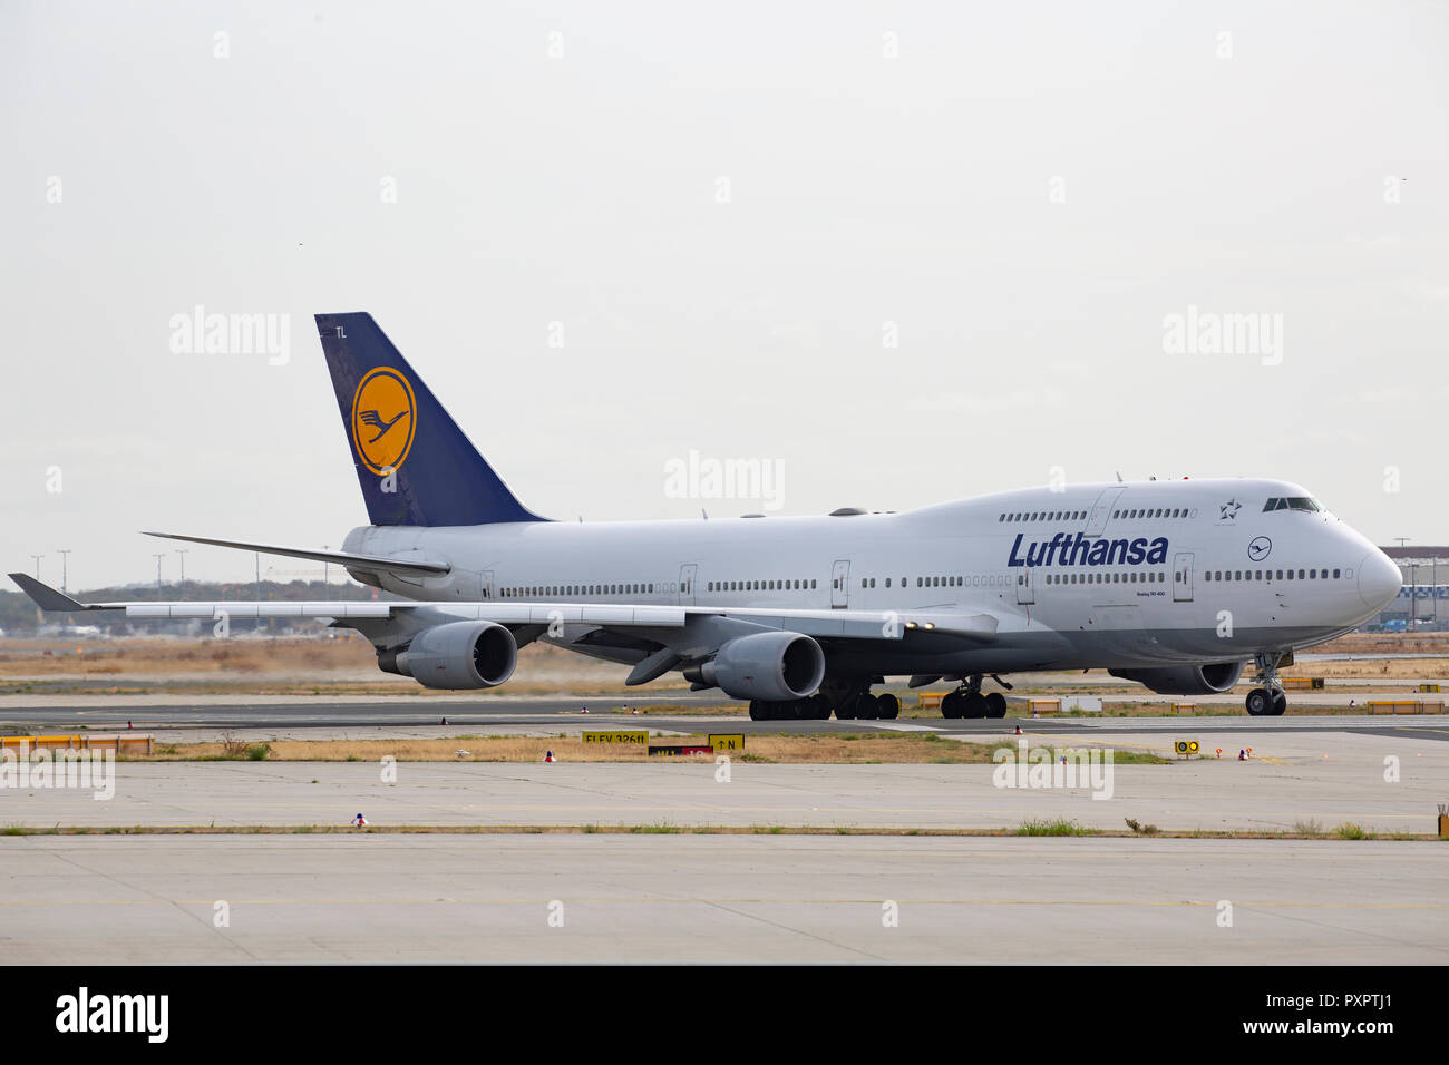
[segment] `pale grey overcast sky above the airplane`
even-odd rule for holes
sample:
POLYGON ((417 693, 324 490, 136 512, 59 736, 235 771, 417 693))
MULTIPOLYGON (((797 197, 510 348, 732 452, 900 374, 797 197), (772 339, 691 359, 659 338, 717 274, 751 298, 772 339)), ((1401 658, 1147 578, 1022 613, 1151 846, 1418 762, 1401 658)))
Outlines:
POLYGON ((336 546, 345 310, 546 516, 761 509, 693 449, 774 513, 1275 475, 1443 543, 1446 10, 6 0, 0 556, 336 546), (196 306, 290 358, 175 352, 196 306))

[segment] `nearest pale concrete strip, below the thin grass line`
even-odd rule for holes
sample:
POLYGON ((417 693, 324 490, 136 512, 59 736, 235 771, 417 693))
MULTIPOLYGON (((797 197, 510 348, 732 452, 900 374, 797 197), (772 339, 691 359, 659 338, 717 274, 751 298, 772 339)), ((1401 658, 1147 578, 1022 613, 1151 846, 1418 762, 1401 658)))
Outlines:
POLYGON ((23 858, 0 878, 9 962, 1449 961, 1449 852, 1435 843, 845 836, 3 843, 23 858))

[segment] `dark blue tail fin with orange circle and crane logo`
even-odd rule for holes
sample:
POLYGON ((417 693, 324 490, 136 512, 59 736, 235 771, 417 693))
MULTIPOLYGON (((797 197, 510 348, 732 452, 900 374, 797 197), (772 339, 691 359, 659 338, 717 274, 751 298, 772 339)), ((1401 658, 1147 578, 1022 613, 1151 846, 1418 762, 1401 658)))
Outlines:
POLYGON ((513 497, 371 314, 316 317, 372 525, 545 520, 513 497))

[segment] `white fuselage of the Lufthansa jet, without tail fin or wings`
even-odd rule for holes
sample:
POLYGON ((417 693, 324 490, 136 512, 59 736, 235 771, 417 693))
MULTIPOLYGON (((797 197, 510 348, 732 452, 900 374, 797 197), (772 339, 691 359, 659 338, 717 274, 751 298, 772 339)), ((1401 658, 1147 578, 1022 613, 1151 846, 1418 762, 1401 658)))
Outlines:
POLYGON ((904 513, 367 526, 345 549, 448 562, 440 577, 381 580, 416 600, 997 619, 990 648, 929 661, 862 648, 868 672, 1132 667, 1313 645, 1397 594, 1398 568, 1362 535, 1323 510, 1265 511, 1277 498, 1308 493, 1275 480, 1181 480, 1026 488, 904 513))

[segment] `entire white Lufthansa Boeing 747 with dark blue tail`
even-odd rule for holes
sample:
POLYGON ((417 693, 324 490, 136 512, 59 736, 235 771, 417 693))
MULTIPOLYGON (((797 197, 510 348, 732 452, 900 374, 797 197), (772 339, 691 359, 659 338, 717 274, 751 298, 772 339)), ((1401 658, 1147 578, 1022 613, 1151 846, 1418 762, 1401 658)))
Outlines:
POLYGON ((1271 478, 1022 488, 903 513, 551 522, 527 510, 369 314, 317 329, 371 525, 342 551, 154 533, 339 564, 407 601, 80 603, 25 574, 45 610, 128 617, 320 617, 378 667, 490 688, 542 639, 697 690, 751 717, 895 717, 872 684, 958 682, 948 717, 1001 717, 1006 674, 1106 668, 1152 691, 1227 691, 1281 714, 1279 662, 1349 632, 1400 588, 1392 561, 1271 478))

